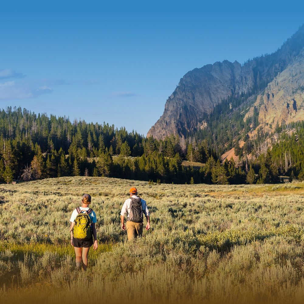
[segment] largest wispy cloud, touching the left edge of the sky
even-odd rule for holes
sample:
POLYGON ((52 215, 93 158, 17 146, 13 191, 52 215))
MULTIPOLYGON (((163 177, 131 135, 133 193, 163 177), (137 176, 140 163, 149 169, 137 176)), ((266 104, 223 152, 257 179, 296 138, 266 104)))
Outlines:
POLYGON ((0 83, 0 100, 35 98, 51 92, 53 89, 46 85, 36 87, 31 83, 16 83, 15 81, 0 83))

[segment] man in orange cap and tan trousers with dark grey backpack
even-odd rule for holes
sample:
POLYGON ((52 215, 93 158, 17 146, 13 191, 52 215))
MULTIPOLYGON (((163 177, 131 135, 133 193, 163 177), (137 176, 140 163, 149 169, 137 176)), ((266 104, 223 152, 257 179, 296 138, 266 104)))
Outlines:
POLYGON ((150 229, 150 213, 146 204, 146 201, 137 196, 137 189, 130 189, 130 198, 126 199, 123 204, 123 208, 120 212, 121 219, 121 229, 123 231, 127 230, 128 240, 134 237, 141 237, 143 234, 143 213, 147 219, 146 230, 150 229), (127 216, 127 221, 125 225, 125 216, 127 216))

